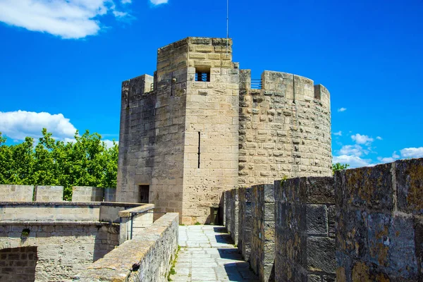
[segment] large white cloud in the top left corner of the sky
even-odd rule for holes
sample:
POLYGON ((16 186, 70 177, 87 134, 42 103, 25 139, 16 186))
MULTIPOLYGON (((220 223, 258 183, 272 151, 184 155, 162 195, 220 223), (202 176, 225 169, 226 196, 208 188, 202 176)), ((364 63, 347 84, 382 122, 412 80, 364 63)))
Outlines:
POLYGON ((102 29, 99 18, 109 11, 118 18, 128 15, 115 9, 113 0, 0 0, 0 21, 65 39, 78 39, 97 35, 102 29))

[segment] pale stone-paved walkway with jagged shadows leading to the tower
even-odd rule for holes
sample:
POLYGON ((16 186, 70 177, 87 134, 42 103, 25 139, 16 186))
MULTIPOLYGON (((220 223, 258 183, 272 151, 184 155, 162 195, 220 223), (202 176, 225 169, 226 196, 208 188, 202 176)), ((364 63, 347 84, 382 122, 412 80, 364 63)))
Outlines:
POLYGON ((258 281, 222 226, 179 226, 172 281, 258 281))

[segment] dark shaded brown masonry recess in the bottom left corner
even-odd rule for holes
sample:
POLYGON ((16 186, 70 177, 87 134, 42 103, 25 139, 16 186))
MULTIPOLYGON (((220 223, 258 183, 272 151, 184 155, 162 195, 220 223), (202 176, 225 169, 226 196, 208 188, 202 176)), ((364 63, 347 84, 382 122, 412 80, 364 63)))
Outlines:
POLYGON ((0 250, 0 281, 35 281, 37 247, 0 250))

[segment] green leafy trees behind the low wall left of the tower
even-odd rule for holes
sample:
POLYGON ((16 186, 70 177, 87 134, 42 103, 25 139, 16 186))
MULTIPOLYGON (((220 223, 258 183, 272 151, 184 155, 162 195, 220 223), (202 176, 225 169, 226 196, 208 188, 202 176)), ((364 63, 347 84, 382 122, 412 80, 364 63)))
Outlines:
POLYGON ((88 130, 75 142, 56 141, 43 128, 37 145, 26 137, 18 145, 6 145, 0 133, 0 183, 61 185, 71 200, 72 186, 116 188, 118 145, 107 148, 102 136, 88 130))

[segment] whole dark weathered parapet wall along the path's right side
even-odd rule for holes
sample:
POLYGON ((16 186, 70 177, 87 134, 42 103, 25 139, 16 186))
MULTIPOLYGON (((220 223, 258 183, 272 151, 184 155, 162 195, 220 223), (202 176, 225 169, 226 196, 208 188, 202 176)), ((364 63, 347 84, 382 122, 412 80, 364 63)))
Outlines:
MULTIPOLYGON (((244 255, 251 240, 260 281, 273 281, 271 266, 275 281, 423 281, 423 159, 238 192, 238 247, 244 255), (243 206, 251 190, 250 215, 243 206), (249 218, 250 239, 241 232, 249 218)), ((226 197, 226 212, 234 202, 226 197)))

